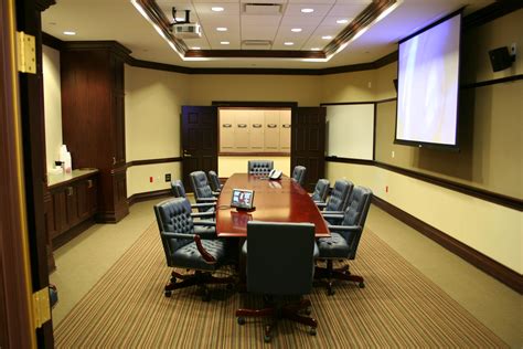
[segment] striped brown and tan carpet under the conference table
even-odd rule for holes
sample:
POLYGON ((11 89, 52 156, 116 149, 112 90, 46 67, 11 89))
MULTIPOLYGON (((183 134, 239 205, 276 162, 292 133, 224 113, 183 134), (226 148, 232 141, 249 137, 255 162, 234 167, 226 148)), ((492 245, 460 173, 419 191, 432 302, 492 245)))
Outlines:
MULTIPOLYGON (((280 321, 269 346, 278 348, 504 348, 506 345, 408 262, 365 230, 351 263, 366 287, 339 284, 309 296, 319 321, 280 321)), ((217 287, 210 303, 195 287, 162 287, 170 269, 156 223, 120 257, 54 331, 57 348, 262 348, 263 320, 239 326, 238 307, 259 299, 217 287)))

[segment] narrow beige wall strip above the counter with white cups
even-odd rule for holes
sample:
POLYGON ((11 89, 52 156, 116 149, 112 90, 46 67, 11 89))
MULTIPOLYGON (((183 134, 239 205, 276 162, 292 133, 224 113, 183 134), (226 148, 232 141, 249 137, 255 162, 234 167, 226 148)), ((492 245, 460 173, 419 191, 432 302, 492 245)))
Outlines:
POLYGON ((42 72, 44 84, 45 162, 47 169, 52 169, 54 161, 58 159, 60 146, 63 142, 60 51, 45 45, 42 46, 42 72))

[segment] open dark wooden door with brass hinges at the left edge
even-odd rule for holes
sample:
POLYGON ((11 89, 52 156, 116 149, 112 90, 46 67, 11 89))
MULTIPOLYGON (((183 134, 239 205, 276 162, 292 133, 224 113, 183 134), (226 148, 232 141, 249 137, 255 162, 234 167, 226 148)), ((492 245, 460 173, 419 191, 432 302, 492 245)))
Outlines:
POLYGON ((53 3, 7 0, 0 4, 2 348, 53 347, 43 215, 46 179, 41 40, 41 11, 53 3), (34 44, 18 40, 21 32, 34 44), (33 56, 28 56, 32 64, 13 60, 19 50, 32 52, 33 56))

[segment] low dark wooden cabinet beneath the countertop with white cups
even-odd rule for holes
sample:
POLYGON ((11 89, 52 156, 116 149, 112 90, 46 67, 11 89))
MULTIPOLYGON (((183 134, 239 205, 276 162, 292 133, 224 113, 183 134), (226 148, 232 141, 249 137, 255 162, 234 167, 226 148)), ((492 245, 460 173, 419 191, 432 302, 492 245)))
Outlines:
POLYGON ((97 176, 97 171, 90 171, 47 188, 44 195, 44 218, 53 248, 94 223, 98 210, 97 176))

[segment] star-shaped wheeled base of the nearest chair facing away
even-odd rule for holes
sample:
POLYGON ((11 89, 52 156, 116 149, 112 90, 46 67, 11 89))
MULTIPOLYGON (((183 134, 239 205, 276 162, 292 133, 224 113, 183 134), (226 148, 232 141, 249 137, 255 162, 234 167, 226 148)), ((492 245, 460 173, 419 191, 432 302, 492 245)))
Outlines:
POLYGON ((306 315, 310 315, 311 303, 309 299, 301 299, 296 303, 285 304, 277 306, 274 303, 266 302, 268 306, 263 309, 237 309, 236 317, 238 324, 245 324, 245 317, 270 317, 271 322, 265 327, 264 340, 266 342, 271 339, 271 331, 279 319, 289 319, 295 322, 299 322, 309 326, 309 334, 316 336, 316 329, 318 321, 309 316, 303 316, 300 313, 303 311, 306 315))

